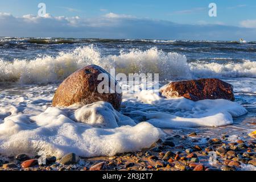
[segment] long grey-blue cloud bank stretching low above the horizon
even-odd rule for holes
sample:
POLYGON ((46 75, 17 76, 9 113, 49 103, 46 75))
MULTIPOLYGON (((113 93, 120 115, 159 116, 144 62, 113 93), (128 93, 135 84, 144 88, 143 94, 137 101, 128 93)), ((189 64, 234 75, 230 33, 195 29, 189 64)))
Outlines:
POLYGON ((1 36, 193 40, 237 40, 240 37, 253 40, 256 37, 255 29, 220 25, 222 22, 177 24, 115 13, 95 18, 49 14, 15 17, 0 13, 0 24, 1 36))

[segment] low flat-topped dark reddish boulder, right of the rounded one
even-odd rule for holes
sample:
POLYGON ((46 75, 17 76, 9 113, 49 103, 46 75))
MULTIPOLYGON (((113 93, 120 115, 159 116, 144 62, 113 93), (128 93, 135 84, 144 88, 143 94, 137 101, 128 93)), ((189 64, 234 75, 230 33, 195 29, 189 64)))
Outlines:
POLYGON ((233 86, 217 78, 171 82, 160 93, 167 98, 185 97, 192 101, 218 98, 234 101, 233 86))

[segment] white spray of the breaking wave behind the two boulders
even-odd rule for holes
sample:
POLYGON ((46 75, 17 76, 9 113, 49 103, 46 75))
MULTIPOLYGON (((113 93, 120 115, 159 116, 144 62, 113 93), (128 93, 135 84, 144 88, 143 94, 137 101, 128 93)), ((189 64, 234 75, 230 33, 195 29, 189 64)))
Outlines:
POLYGON ((159 73, 160 80, 187 79, 193 77, 256 77, 256 63, 187 63, 187 58, 175 52, 163 52, 157 48, 146 51, 131 49, 119 55, 102 56, 94 46, 76 48, 72 52, 60 52, 58 56, 40 56, 35 60, 12 62, 0 59, 0 81, 23 84, 47 84, 63 81, 71 73, 86 65, 96 64, 116 73, 159 73))

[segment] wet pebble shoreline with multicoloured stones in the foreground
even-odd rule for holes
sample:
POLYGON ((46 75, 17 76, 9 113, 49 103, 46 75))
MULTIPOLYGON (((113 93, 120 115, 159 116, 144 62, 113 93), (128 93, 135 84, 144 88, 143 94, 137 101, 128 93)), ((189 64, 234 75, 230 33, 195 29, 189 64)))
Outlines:
MULTIPOLYGON (((253 118, 243 118, 256 127, 253 118), (251 119, 251 120, 250 120, 251 119)), ((80 157, 76 164, 63 165, 60 159, 48 165, 21 167, 15 156, 0 156, 5 163, 15 163, 0 171, 242 171, 256 170, 256 140, 241 131, 236 138, 221 127, 219 134, 207 137, 204 130, 163 129, 167 136, 159 139, 150 149, 114 156, 80 157), (179 134, 177 134, 179 133, 179 134), (243 135, 241 135, 243 133, 243 135), (170 135, 171 134, 171 135, 170 135), (231 138, 230 138, 231 137, 231 138), (230 140, 233 139, 233 140, 230 140), (216 154, 217 160, 209 154, 216 154), (254 165, 254 166, 253 166, 254 165)), ((225 127, 224 127, 225 128, 225 127)), ((204 128, 207 129, 207 128, 204 128)), ((216 128, 217 129, 217 128, 216 128)), ((36 156, 34 159, 38 159, 36 156)), ((51 156, 52 157, 52 156, 51 156)))

